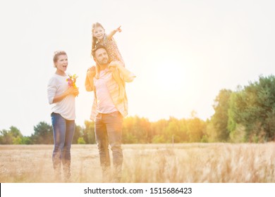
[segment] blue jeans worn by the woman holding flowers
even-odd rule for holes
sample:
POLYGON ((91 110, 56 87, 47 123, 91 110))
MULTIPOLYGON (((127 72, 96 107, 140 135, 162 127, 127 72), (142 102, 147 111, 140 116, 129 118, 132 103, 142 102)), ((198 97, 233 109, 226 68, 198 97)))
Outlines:
POLYGON ((71 177, 71 144, 75 132, 75 120, 66 120, 59 113, 51 113, 54 130, 52 161, 56 175, 61 172, 61 163, 66 178, 71 177))

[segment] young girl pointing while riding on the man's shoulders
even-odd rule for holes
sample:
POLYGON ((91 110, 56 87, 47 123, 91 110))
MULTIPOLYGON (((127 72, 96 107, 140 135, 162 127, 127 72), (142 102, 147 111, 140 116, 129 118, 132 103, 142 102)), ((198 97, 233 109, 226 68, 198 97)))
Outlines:
MULTIPOLYGON (((92 25, 92 56, 94 56, 94 49, 96 48, 97 44, 102 44, 103 46, 105 46, 107 50, 107 53, 110 58, 110 62, 118 61, 121 65, 123 65, 123 67, 125 67, 121 53, 118 51, 118 46, 116 45, 116 42, 113 38, 116 32, 121 32, 121 26, 107 35, 105 33, 104 27, 100 23, 94 23, 92 25)), ((115 70, 114 68, 110 68, 110 70, 112 72, 114 80, 118 83, 118 87, 119 87, 118 100, 122 102, 125 94, 125 83, 123 82, 123 80, 121 80, 121 77, 119 77, 118 70, 115 70)), ((97 79, 99 77, 98 66, 96 67, 95 77, 97 79)))

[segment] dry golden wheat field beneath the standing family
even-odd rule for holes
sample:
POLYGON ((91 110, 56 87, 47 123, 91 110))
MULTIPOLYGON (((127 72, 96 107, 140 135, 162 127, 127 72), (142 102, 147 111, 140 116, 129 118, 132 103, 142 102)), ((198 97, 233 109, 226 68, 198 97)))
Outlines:
MULTIPOLYGON (((49 183, 53 145, 0 145, 1 183, 49 183)), ((275 143, 125 144, 126 183, 274 183, 275 143)), ((102 182, 96 145, 71 148, 70 182, 102 182)))

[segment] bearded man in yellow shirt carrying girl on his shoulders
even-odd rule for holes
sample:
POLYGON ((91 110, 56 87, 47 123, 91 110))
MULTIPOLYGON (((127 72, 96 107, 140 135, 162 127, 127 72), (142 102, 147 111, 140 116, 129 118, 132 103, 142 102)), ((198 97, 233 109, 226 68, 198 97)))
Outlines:
POLYGON ((110 144, 114 164, 113 182, 120 182, 123 163, 122 123, 123 117, 128 114, 125 82, 132 82, 135 75, 124 68, 119 61, 110 62, 108 53, 102 45, 94 49, 93 57, 96 66, 87 70, 85 88, 87 91, 94 91, 90 119, 95 124, 103 181, 111 180, 110 144))

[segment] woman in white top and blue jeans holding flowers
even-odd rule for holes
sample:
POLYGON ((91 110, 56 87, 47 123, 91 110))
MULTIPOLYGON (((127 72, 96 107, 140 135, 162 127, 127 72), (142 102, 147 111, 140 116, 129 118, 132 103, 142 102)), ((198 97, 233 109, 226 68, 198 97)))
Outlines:
POLYGON ((54 151, 52 161, 56 178, 61 175, 61 163, 65 179, 71 177, 71 144, 75 132, 75 96, 78 88, 68 83, 66 73, 68 57, 65 51, 54 52, 56 72, 48 84, 48 99, 52 104, 51 123, 54 131, 54 151))

